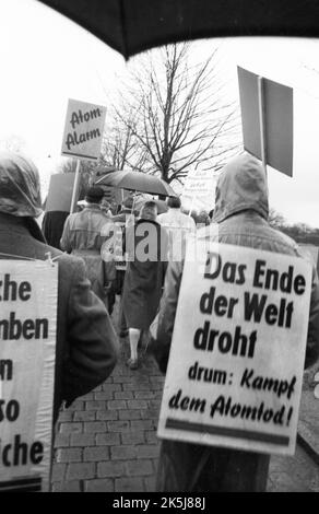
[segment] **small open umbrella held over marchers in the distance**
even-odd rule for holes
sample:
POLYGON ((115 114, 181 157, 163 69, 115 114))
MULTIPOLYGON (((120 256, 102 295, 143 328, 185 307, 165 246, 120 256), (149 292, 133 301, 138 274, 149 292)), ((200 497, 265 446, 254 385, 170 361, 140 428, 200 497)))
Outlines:
POLYGON ((109 173, 95 182, 95 185, 106 185, 121 187, 131 191, 150 192, 151 195, 162 195, 175 197, 176 194, 166 182, 154 175, 142 172, 116 172, 109 173))

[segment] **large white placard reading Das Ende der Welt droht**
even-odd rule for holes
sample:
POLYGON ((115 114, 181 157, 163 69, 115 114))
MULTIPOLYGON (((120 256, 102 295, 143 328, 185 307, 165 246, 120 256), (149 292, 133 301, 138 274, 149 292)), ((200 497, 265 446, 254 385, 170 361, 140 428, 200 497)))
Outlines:
POLYGON ((292 455, 310 289, 302 258, 189 244, 158 436, 292 455))

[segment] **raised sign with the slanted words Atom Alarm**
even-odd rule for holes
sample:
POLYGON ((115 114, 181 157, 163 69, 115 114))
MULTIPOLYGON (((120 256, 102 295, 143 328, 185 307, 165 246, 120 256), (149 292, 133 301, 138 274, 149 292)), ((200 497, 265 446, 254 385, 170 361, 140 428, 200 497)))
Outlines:
POLYGON ((69 100, 62 155, 97 161, 101 153, 106 108, 102 105, 69 100))

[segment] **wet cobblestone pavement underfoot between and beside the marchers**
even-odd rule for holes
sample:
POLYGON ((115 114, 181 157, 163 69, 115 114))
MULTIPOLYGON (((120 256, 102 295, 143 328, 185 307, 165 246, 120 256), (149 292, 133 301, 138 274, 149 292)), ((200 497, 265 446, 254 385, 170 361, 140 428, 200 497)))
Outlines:
MULTIPOLYGON (((147 353, 129 370, 128 341, 111 376, 62 410, 57 423, 52 491, 151 492, 164 377, 147 353)), ((319 492, 319 466, 297 446, 294 457, 273 456, 268 490, 319 492)))

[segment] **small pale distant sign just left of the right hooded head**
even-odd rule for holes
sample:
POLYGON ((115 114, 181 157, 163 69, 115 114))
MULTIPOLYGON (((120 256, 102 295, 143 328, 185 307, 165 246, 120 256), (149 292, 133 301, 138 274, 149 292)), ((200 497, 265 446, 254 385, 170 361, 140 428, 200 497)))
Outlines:
POLYGON ((185 180, 181 205, 187 210, 209 212, 215 206, 216 178, 212 170, 191 170, 185 180))

